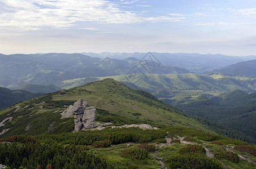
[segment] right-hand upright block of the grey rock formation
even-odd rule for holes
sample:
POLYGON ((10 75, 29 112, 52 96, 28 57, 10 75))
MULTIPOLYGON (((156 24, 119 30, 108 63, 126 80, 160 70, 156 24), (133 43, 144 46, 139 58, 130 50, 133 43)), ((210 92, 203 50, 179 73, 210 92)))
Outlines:
POLYGON ((84 128, 93 128, 96 118, 96 108, 95 107, 89 107, 84 110, 83 115, 83 124, 84 128))

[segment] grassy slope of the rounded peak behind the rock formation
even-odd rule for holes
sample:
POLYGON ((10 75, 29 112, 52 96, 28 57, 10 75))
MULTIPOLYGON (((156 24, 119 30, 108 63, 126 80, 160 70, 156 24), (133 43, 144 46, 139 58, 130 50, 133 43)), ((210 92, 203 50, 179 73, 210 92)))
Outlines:
POLYGON ((132 90, 113 79, 54 92, 18 104, 21 109, 17 112, 15 112, 16 105, 2 110, 0 121, 7 117, 14 119, 1 127, 1 130, 11 128, 1 137, 73 131, 73 118, 60 119, 60 113, 64 110, 64 105, 73 104, 79 98, 88 101, 91 106, 96 106, 97 117, 102 120, 109 118, 110 121, 120 124, 143 122, 209 130, 189 115, 153 100, 154 98, 149 99, 143 94, 146 95, 145 92, 132 90), (45 103, 40 104, 42 101, 45 103))

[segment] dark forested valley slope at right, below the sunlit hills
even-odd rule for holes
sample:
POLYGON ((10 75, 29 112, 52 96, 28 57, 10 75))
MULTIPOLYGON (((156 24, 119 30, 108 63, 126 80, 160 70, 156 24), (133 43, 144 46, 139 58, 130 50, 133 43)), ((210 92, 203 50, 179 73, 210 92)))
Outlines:
POLYGON ((219 122, 253 137, 256 142, 256 93, 233 90, 216 96, 194 94, 175 96, 166 102, 198 117, 219 122))

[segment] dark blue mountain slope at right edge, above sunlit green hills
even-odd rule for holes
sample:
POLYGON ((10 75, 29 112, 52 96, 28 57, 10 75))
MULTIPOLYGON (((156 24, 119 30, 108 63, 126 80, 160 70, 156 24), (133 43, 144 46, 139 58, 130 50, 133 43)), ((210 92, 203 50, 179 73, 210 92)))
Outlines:
POLYGON ((256 75, 256 59, 242 61, 237 64, 226 66, 222 69, 216 69, 214 72, 225 74, 240 74, 240 75, 256 75))

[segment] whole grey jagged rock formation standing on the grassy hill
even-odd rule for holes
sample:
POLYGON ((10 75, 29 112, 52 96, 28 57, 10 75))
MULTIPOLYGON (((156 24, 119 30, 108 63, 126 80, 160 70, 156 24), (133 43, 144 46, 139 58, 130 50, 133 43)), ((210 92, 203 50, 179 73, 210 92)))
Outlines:
POLYGON ((96 118, 96 108, 89 107, 88 102, 83 99, 77 100, 74 105, 70 105, 61 113, 61 118, 75 117, 75 131, 84 128, 93 128, 96 118))

